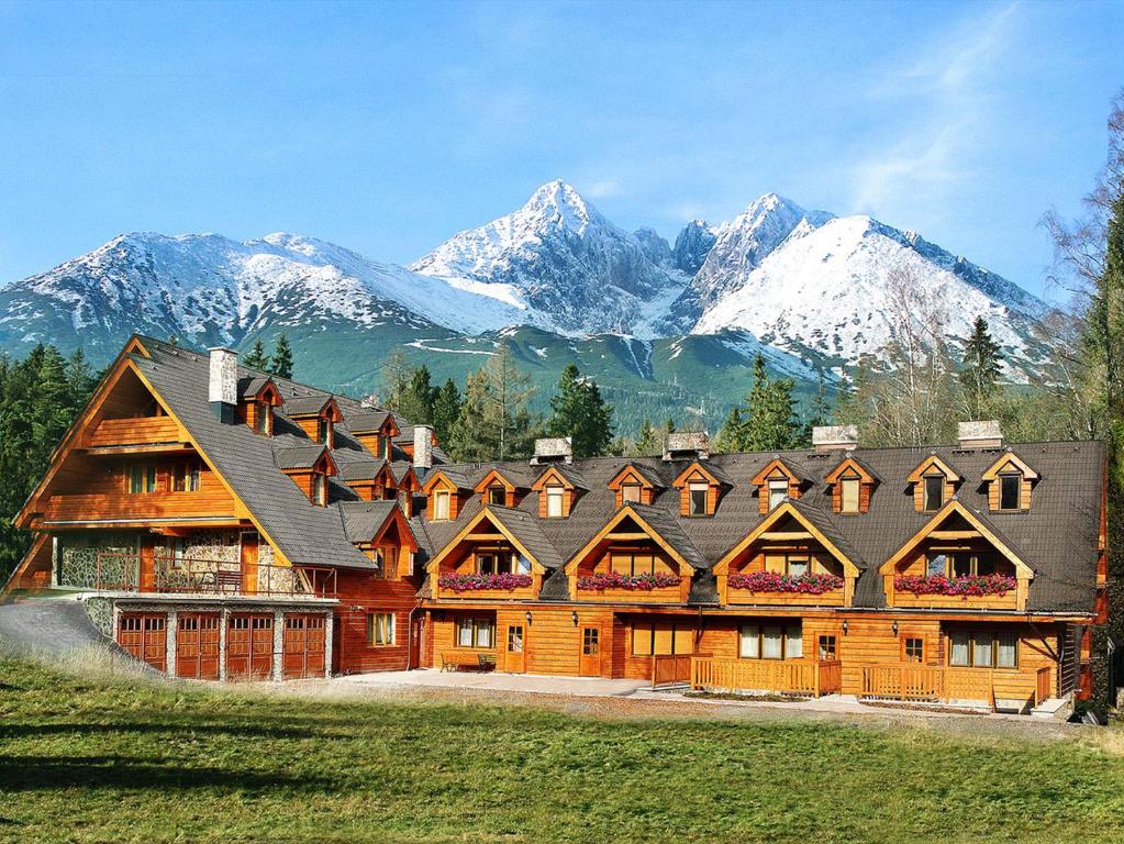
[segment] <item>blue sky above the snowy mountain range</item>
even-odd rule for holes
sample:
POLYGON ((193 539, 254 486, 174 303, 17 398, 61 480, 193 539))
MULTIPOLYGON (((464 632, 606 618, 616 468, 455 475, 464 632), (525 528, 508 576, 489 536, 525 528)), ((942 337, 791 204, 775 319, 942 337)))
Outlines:
POLYGON ((130 230, 408 263, 572 182, 669 239, 776 191, 1042 292, 1124 3, 0 0, 0 282, 130 230))

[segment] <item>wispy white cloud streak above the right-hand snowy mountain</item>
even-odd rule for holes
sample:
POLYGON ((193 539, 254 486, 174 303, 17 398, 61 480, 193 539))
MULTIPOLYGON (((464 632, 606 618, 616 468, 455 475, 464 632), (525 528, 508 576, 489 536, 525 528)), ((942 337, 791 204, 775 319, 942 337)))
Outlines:
POLYGON ((946 199, 977 173, 977 156, 992 137, 989 112, 1005 62, 1018 58, 1018 3, 942 31, 942 45, 921 45, 925 57, 897 66, 870 91, 898 110, 899 128, 854 165, 854 206, 894 218, 904 207, 946 199))

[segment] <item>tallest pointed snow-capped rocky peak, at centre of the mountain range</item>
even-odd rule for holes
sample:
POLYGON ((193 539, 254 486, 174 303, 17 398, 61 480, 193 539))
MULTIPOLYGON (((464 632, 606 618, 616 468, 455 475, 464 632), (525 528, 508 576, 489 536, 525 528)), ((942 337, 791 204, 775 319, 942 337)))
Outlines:
POLYGON ((654 232, 637 237, 617 228, 555 180, 519 210, 454 235, 410 270, 477 292, 487 292, 481 284, 496 288, 525 307, 524 321, 560 334, 651 338, 663 334, 662 319, 688 281, 667 253, 654 232))

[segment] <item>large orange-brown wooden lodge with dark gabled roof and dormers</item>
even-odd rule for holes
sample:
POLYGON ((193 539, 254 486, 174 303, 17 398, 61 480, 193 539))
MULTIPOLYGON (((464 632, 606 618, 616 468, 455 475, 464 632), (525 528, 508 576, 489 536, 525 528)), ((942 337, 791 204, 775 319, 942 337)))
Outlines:
POLYGON ((173 677, 415 668, 1019 710, 1088 693, 1102 444, 451 464, 391 412, 134 337, 17 518, 173 677))

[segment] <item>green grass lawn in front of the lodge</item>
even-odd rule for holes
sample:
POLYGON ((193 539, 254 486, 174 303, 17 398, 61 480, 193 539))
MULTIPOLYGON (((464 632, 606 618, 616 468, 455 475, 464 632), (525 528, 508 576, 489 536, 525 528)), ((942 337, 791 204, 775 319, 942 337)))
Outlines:
POLYGON ((0 659, 0 840, 1120 842, 1109 744, 255 699, 0 659))

